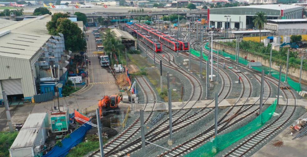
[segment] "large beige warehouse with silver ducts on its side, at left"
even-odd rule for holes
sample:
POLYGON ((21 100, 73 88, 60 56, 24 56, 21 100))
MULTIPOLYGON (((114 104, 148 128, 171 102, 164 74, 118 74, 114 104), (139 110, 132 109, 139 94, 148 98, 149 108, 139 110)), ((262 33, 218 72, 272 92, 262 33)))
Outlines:
POLYGON ((66 82, 71 52, 65 51, 63 34, 48 34, 45 25, 50 19, 1 20, 0 90, 5 90, 9 104, 31 101, 38 94, 55 95, 56 84, 66 82))

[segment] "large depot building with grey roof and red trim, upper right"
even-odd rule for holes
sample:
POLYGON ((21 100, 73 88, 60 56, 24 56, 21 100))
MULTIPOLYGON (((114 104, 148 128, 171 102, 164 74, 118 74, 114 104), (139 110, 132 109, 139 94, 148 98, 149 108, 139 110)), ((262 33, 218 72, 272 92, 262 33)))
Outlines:
POLYGON ((208 9, 208 21, 209 26, 217 29, 248 30, 255 27, 252 20, 258 12, 266 13, 267 19, 300 19, 303 11, 303 6, 285 4, 213 8, 208 9))

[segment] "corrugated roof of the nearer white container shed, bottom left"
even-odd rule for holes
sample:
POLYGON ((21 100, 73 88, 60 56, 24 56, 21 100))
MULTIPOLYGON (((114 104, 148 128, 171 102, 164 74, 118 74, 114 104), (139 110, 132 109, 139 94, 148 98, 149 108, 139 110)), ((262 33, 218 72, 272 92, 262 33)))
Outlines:
POLYGON ((39 129, 20 130, 10 149, 32 147, 39 129))

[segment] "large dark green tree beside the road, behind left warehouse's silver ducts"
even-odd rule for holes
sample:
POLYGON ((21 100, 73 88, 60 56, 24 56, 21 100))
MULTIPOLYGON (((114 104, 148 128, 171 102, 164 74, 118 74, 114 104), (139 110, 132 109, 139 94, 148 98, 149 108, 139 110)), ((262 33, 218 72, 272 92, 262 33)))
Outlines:
POLYGON ((64 35, 66 50, 73 52, 86 50, 84 34, 76 23, 68 18, 59 18, 56 26, 56 32, 64 35))

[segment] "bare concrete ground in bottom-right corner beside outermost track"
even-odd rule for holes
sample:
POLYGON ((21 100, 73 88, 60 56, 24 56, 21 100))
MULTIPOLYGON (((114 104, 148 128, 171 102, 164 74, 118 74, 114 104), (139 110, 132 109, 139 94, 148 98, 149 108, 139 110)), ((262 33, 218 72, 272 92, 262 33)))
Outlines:
MULTIPOLYGON (((307 113, 301 116, 306 116, 307 113)), ((306 156, 306 148, 307 148, 307 136, 304 136, 301 139, 294 139, 294 136, 290 135, 291 129, 289 126, 284 129, 280 134, 278 134, 275 138, 271 140, 271 142, 264 145, 260 150, 258 150, 253 157, 279 157, 279 156, 306 156), (284 145, 282 147, 275 147, 272 141, 282 140, 284 141, 284 145)))

